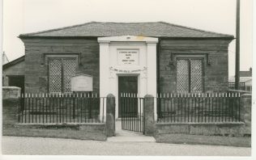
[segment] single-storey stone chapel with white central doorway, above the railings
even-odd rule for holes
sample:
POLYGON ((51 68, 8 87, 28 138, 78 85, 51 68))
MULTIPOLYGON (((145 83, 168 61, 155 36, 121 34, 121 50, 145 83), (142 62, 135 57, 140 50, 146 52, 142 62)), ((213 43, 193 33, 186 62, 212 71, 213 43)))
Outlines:
POLYGON ((92 76, 102 97, 228 91, 231 35, 164 22, 91 22, 19 38, 26 93, 70 93, 76 74, 92 76))

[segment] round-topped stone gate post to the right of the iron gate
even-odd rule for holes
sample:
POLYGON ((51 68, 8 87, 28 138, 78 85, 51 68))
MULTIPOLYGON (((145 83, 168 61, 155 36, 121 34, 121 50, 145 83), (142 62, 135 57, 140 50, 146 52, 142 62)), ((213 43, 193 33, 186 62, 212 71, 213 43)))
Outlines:
POLYGON ((155 131, 154 121, 154 97, 145 95, 144 97, 144 134, 153 136, 155 131))

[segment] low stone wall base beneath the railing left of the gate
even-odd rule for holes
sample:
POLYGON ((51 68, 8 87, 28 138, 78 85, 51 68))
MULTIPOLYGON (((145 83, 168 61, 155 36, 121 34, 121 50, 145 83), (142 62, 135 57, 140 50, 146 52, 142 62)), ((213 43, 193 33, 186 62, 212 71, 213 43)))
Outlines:
POLYGON ((106 124, 15 124, 2 128, 3 136, 58 137, 106 141, 106 124))

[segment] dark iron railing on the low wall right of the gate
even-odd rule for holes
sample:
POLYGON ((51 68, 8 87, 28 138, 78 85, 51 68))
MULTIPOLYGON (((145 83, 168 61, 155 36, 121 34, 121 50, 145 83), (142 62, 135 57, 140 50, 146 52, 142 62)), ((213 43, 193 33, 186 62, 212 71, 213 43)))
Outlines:
POLYGON ((157 122, 240 121, 240 94, 159 94, 157 122))

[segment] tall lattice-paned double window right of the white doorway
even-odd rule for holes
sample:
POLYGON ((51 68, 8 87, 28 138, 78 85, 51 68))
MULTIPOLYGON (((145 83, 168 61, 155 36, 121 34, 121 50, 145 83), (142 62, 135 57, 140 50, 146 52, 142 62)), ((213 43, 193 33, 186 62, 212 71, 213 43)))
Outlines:
POLYGON ((202 59, 177 60, 177 92, 203 92, 202 59))

